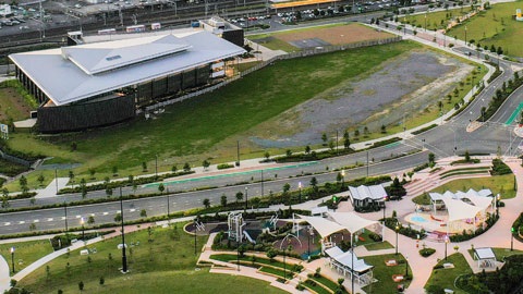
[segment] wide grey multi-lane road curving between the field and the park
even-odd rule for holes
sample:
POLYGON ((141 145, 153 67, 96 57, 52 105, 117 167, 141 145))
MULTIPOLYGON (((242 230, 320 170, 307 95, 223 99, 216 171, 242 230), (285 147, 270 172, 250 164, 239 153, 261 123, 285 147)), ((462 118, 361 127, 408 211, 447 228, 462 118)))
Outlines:
MULTIPOLYGON (((405 29, 406 34, 412 32, 405 29)), ((455 51, 466 53, 470 49, 464 46, 457 46, 455 51)), ((497 60, 495 60, 497 62, 497 60)), ((421 135, 410 135, 408 139, 390 144, 385 147, 375 148, 367 151, 329 158, 321 161, 290 163, 278 168, 263 168, 255 171, 231 172, 227 176, 205 176, 193 180, 173 180, 168 181, 166 186, 169 188, 169 210, 171 212, 182 211, 190 208, 203 207, 203 199, 208 198, 212 204, 220 203, 221 195, 227 195, 228 201, 235 201, 238 192, 245 192, 247 188, 248 198, 255 196, 267 196, 269 191, 281 192, 285 183, 291 185, 292 189, 297 189, 301 182, 304 187, 308 186, 311 179, 315 176, 319 183, 336 181, 337 172, 335 169, 353 166, 356 162, 365 163, 364 167, 346 170, 345 181, 367 175, 388 174, 402 172, 412 169, 415 166, 427 161, 428 154, 434 152, 438 158, 449 157, 454 154, 462 155, 465 150, 471 154, 496 154, 501 150, 502 155, 519 155, 518 146, 522 139, 515 137, 512 133, 514 122, 514 110, 522 102, 522 90, 518 89, 502 105, 499 111, 483 126, 474 132, 467 132, 466 127, 479 117, 481 109, 488 105, 496 89, 500 88, 502 83, 512 78, 513 69, 510 62, 499 60, 499 65, 503 73, 492 81, 469 106, 469 108, 455 115, 442 125, 431 128, 421 135), (423 149, 423 151, 422 151, 423 149), (402 156, 397 159, 391 157, 402 156), (366 166, 369 160, 368 167, 366 166), (374 159, 374 161, 373 161, 374 159), (264 182, 262 182, 262 174, 264 182), (309 175, 314 174, 314 175, 309 175), (248 184, 244 184, 248 183, 248 184), (205 191, 190 192, 200 187, 212 187, 205 191)), ((518 115, 519 118, 519 115, 518 115)), ((156 185, 144 185, 138 187, 136 194, 158 192, 156 185)), ((122 189, 123 195, 132 194, 131 187, 122 189)), ((114 191, 113 198, 118 197, 119 192, 114 191)), ((89 192, 87 198, 105 198, 105 191, 89 192)), ((35 205, 48 205, 56 203, 70 203, 80 200, 80 195, 64 195, 60 197, 37 199, 35 205)), ((167 213, 167 196, 149 197, 143 199, 125 200, 123 211, 125 220, 139 219, 142 209, 147 211, 148 217, 167 213)), ((29 207, 29 200, 11 201, 11 208, 29 207)), ((0 234, 11 234, 26 232, 29 224, 34 223, 36 230, 51 230, 65 228, 65 213, 68 216, 68 225, 80 226, 80 219, 88 216, 95 217, 95 224, 113 222, 114 216, 120 210, 120 203, 105 203, 97 205, 85 205, 77 207, 44 209, 34 211, 9 212, 0 215, 0 234)))

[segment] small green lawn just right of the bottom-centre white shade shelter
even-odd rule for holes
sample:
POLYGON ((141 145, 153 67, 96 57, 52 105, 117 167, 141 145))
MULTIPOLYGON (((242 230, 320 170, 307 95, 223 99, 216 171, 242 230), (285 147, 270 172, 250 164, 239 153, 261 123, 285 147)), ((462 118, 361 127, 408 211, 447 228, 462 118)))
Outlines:
MULTIPOLYGON (((400 283, 396 283, 392 280, 393 274, 405 274, 405 264, 399 264, 396 267, 387 267, 385 265, 386 260, 396 259, 399 262, 405 260, 403 255, 394 255, 394 254, 386 254, 386 255, 375 255, 375 256, 365 256, 365 262, 368 265, 374 266, 374 278, 378 281, 376 283, 372 283, 365 287, 363 291, 366 293, 398 293, 398 284, 403 284, 405 287, 411 284, 411 281, 402 281, 400 283)), ((409 274, 412 275, 412 269, 409 267, 409 274)), ((415 274, 415 273, 414 273, 415 274)))

